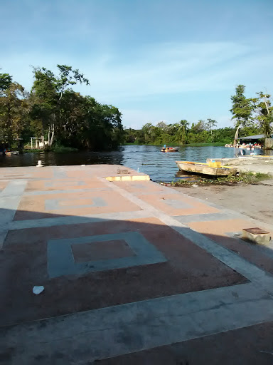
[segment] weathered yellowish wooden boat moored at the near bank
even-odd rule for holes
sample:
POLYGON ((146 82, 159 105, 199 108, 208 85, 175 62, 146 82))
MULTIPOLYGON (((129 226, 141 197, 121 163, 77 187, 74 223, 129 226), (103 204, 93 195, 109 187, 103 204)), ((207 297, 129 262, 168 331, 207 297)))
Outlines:
POLYGON ((196 173, 200 175, 228 176, 235 175, 237 173, 237 168, 230 168, 228 166, 213 167, 213 164, 208 163, 176 161, 176 165, 178 165, 178 168, 181 171, 186 171, 186 173, 196 173))

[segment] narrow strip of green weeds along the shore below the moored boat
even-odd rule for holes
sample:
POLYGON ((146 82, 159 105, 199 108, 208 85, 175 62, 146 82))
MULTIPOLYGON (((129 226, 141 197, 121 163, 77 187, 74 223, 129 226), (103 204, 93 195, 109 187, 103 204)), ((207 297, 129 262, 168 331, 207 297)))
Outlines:
POLYGON ((272 179, 272 175, 264 174, 264 173, 240 173, 238 175, 228 175, 222 178, 210 178, 210 179, 202 179, 198 181, 187 181, 187 180, 178 180, 172 181, 169 184, 171 186, 191 186, 191 185, 237 185, 237 184, 257 184, 262 180, 270 180, 272 179))

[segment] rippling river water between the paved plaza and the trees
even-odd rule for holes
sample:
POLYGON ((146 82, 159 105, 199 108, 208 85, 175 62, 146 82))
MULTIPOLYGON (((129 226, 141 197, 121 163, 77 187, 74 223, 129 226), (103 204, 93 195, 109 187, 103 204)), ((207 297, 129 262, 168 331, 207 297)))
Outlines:
MULTIPOLYGON (((249 153, 249 151, 247 151, 249 153)), ((262 150, 255 150, 263 154, 262 150)), ((268 151, 267 151, 268 152, 268 151)), ((272 151, 271 151, 272 152, 272 151)), ((36 166, 38 160, 43 165, 89 165, 116 164, 124 165, 141 173, 150 175, 154 181, 170 182, 178 178, 192 179, 190 175, 181 175, 175 161, 205 162, 207 158, 233 158, 235 148, 216 146, 185 146, 176 153, 162 153, 161 146, 126 145, 115 151, 77 152, 77 153, 24 153, 0 157, 0 167, 36 166)))

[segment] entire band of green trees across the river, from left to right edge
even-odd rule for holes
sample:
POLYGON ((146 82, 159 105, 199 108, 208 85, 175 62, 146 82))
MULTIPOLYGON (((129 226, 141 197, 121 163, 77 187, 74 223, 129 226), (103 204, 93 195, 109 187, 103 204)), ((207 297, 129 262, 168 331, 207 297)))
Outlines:
POLYGON ((181 144, 231 143, 240 136, 263 133, 272 135, 273 107, 268 93, 245 96, 239 85, 231 96, 234 126, 217 128, 208 118, 190 123, 181 120, 146 123, 139 130, 123 130, 122 113, 112 105, 98 103, 91 96, 73 91, 78 83, 89 81, 77 69, 58 65, 58 74, 46 68, 33 68, 33 86, 28 92, 9 73, 0 73, 0 144, 12 145, 19 138, 29 142, 36 137, 46 148, 64 145, 73 148, 106 149, 126 143, 181 144))

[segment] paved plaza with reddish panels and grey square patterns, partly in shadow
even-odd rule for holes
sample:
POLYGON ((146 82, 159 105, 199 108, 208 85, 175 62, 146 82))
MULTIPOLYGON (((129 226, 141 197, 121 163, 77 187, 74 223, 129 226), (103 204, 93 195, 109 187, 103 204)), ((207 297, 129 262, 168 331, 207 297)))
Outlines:
POLYGON ((117 168, 1 168, 0 362, 272 364, 273 227, 117 168))

